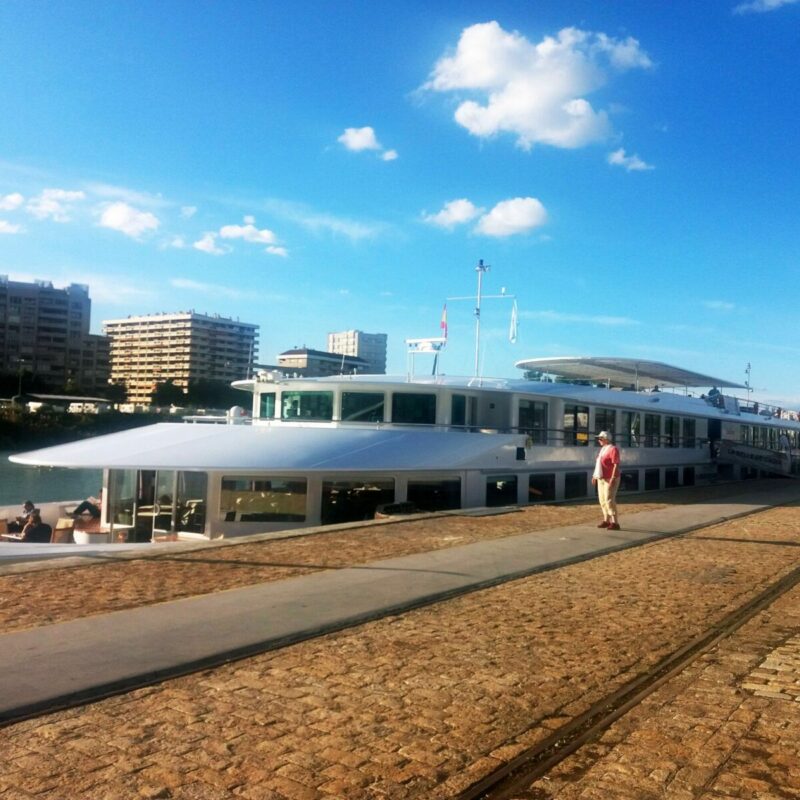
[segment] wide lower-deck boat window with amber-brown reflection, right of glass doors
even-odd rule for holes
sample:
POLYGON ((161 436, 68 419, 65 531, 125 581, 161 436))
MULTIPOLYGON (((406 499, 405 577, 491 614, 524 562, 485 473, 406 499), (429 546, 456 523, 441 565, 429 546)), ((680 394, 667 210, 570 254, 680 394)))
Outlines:
POLYGON ((227 522, 303 522, 305 478, 227 476, 222 479, 220 518, 227 522))

